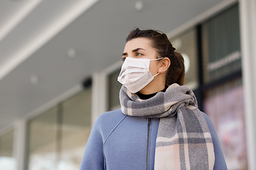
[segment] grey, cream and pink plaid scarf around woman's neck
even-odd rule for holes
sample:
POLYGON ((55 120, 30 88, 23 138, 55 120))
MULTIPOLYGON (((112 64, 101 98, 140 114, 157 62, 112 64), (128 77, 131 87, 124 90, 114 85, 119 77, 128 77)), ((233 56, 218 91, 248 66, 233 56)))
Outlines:
POLYGON ((119 98, 125 115, 161 118, 154 169, 213 169, 213 141, 191 89, 172 84, 142 100, 122 86, 119 98))

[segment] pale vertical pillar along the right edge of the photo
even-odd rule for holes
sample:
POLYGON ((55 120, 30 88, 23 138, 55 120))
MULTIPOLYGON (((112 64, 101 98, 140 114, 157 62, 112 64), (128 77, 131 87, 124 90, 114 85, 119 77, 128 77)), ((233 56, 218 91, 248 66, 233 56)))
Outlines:
POLYGON ((256 1, 239 0, 248 169, 256 169, 256 1))

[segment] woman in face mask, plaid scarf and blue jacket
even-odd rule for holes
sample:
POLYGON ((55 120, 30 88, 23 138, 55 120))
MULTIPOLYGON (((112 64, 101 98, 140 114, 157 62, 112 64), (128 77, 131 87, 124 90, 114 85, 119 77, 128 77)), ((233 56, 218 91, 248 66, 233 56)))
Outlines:
POLYGON ((100 115, 80 170, 227 169, 213 124, 183 86, 183 57, 166 34, 132 30, 118 81, 121 109, 100 115))

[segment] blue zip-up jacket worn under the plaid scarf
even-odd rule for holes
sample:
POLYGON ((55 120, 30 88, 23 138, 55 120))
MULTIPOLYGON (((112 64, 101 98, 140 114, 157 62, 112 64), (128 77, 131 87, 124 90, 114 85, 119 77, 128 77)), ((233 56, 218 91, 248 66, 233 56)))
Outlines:
MULTIPOLYGON (((206 114, 203 115, 213 138, 214 169, 227 169, 213 123, 206 114)), ((158 127, 159 118, 132 117, 124 115, 121 109, 100 115, 90 133, 80 170, 142 170, 146 166, 154 169, 158 127)))

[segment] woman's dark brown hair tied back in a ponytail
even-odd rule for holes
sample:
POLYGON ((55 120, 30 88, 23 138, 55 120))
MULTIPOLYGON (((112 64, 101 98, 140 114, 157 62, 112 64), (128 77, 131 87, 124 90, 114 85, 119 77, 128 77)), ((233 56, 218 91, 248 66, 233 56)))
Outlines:
POLYGON ((165 33, 157 30, 140 30, 136 28, 129 33, 126 41, 128 42, 134 38, 149 38, 151 46, 156 49, 159 57, 169 58, 171 65, 166 74, 166 86, 174 83, 183 85, 185 76, 183 57, 178 52, 174 52, 175 48, 171 45, 165 33))

